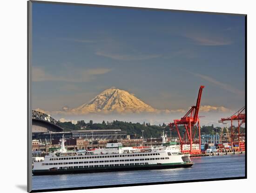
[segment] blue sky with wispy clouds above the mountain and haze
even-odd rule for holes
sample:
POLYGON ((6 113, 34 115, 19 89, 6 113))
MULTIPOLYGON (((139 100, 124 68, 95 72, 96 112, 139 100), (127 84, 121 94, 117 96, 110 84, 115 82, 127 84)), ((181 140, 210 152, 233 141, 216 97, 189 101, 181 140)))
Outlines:
POLYGON ((156 109, 244 105, 244 16, 33 3, 33 109, 110 87, 156 109))

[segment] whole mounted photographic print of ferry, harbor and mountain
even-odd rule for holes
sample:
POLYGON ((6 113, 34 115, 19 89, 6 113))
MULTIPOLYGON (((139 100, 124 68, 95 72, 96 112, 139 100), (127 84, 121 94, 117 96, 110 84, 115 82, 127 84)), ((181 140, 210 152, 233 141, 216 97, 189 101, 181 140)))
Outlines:
POLYGON ((28 192, 246 178, 246 15, 28 1, 28 192))

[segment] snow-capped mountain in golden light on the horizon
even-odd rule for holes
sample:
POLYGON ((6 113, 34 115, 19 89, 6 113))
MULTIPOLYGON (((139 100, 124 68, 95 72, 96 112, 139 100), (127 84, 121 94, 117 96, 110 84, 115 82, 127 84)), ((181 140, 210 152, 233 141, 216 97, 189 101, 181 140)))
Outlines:
POLYGON ((70 109, 74 113, 90 112, 155 112, 157 109, 142 102, 137 97, 120 89, 107 89, 88 103, 70 109))

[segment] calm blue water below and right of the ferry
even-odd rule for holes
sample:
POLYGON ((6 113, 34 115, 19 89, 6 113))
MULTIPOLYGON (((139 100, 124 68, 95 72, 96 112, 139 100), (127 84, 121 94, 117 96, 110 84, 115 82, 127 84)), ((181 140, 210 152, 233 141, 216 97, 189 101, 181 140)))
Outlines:
POLYGON ((198 180, 245 175, 244 154, 195 157, 191 160, 194 162, 191 168, 33 176, 32 189, 198 180))

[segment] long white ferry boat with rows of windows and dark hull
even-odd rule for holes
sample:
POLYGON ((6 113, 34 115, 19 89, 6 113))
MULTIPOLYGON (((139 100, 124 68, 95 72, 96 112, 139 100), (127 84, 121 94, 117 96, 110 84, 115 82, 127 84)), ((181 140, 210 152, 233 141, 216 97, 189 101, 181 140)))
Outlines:
MULTIPOLYGON (((177 145, 122 147, 120 142, 109 142, 106 148, 67 151, 64 146, 49 153, 44 160, 34 161, 34 175, 76 174, 128 170, 191 167, 189 154, 181 154, 177 145)), ((163 137, 163 143, 165 142, 163 137)))

